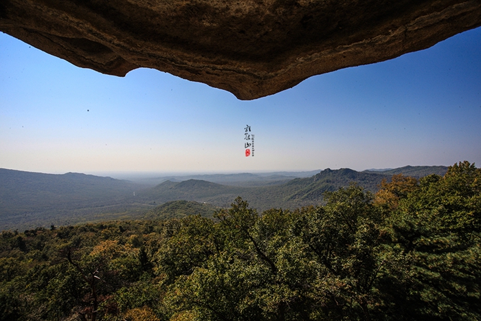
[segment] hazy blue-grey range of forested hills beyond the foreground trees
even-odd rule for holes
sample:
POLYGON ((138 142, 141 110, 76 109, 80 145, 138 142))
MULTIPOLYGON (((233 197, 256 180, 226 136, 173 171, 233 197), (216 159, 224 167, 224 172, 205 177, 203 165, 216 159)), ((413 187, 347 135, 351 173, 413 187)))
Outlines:
MULTIPOLYGON (((241 196, 259 211, 293 209, 320 204, 324 192, 346 187, 352 181, 375 192, 382 179, 390 179, 397 173, 421 177, 432 173, 444 175, 446 170, 446 166, 405 166, 383 172, 326 168, 311 177, 271 185, 264 182, 262 186, 232 186, 187 179, 164 181, 147 188, 111 177, 80 173, 54 175, 0 168, 0 230, 143 217, 154 206, 181 200, 228 207, 241 196)), ((252 177, 249 173, 241 176, 246 180, 252 177)), ((222 174, 209 177, 225 179, 222 174)), ((232 177, 238 179, 240 176, 232 177)))

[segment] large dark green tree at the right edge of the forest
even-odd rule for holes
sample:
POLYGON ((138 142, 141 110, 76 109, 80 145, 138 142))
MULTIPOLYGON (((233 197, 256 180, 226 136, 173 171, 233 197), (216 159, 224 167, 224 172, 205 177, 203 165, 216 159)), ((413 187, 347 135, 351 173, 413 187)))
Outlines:
POLYGON ((409 259, 396 305, 411 320, 480 320, 481 171, 474 164, 430 175, 399 202, 386 225, 409 259))

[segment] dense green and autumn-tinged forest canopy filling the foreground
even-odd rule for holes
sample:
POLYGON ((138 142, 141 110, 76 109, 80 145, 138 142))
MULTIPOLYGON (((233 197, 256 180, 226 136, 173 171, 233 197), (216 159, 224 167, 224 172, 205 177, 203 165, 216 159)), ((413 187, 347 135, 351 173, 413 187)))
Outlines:
POLYGON ((324 206, 3 231, 0 320, 481 320, 481 170, 324 206))

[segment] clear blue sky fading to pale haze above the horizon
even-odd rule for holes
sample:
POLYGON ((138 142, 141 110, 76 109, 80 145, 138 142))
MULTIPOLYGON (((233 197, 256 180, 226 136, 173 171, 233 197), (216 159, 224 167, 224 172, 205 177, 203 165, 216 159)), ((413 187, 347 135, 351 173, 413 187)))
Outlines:
POLYGON ((463 160, 481 166, 481 27, 251 101, 154 69, 124 78, 81 69, 0 32, 0 168, 221 173, 463 160))

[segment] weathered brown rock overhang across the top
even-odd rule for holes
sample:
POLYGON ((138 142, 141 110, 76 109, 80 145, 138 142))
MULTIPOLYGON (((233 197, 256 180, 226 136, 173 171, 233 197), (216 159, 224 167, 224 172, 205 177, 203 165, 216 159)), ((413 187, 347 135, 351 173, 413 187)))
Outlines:
POLYGON ((1 0, 0 30, 79 67, 267 96, 481 25, 480 0, 1 0))

